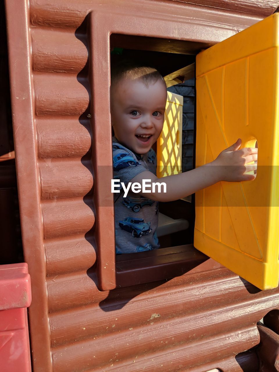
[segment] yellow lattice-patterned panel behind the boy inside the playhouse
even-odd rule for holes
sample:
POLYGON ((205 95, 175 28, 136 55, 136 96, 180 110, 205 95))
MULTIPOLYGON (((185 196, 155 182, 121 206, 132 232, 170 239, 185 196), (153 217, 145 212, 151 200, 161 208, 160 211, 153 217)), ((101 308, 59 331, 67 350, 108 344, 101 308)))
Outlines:
POLYGON ((182 171, 183 97, 167 92, 163 131, 157 140, 157 177, 182 171))

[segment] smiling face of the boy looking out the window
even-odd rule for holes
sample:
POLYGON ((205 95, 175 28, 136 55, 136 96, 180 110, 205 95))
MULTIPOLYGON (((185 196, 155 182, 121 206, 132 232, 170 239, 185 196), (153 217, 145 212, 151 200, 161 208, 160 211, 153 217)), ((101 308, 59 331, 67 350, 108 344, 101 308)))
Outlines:
POLYGON ((111 96, 115 137, 134 153, 148 153, 163 129, 166 86, 159 80, 146 86, 128 78, 112 87, 111 96))

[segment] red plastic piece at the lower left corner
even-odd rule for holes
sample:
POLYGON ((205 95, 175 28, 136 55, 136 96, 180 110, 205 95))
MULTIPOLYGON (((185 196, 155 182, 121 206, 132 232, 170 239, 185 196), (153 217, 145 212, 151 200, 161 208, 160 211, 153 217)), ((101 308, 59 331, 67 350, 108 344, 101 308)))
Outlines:
POLYGON ((0 265, 1 372, 31 372, 27 320, 30 303, 27 264, 0 265))

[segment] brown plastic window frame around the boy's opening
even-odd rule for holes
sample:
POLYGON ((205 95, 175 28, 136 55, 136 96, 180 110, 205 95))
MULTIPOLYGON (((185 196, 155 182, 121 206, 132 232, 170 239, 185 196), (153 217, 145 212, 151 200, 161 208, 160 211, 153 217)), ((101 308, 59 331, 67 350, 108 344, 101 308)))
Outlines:
MULTIPOLYGON (((158 9, 159 11, 159 9, 158 9)), ((204 10, 201 10, 201 14, 204 10)), ((190 244, 162 250, 141 252, 137 256, 118 258, 115 254, 115 221, 113 194, 108 189, 112 173, 112 139, 110 126, 110 35, 146 36, 160 40, 161 46, 170 48, 169 41, 197 43, 203 48, 220 42, 235 33, 236 29, 224 28, 224 25, 196 23, 190 17, 181 17, 177 23, 175 17, 154 13, 142 15, 124 15, 93 11, 89 22, 90 39, 90 81, 91 81, 91 125, 94 138, 92 163, 94 168, 94 205, 95 233, 97 246, 97 277, 101 291, 120 286, 129 286, 182 275, 193 263, 204 262, 203 255, 190 244), (180 27, 183 20, 183 35, 180 27), (158 28, 160 24, 160 28, 158 28), (206 38, 206 40, 205 40, 206 38), (95 78, 98 77, 98 78, 95 78), (96 93, 95 93, 96 92, 96 93), (104 110, 107 107, 107 110, 104 110), (95 124, 96 123, 96 124, 95 124), (100 123, 102 123, 100 125, 100 123), (108 133, 108 135, 104 135, 108 133), (102 172, 103 166, 109 166, 111 172, 102 172), (192 255, 189 256, 189 248, 192 255), (197 253, 198 252, 198 253, 197 253), (137 258, 138 263, 135 262, 137 258)), ((179 44, 180 45, 180 44, 179 44)), ((158 50, 158 49, 157 49, 158 50)), ((165 51, 165 50, 164 50, 165 51)), ((175 52, 172 49, 172 52, 175 52)), ((177 49, 179 52, 179 48, 177 49)), ((194 144, 195 145, 195 144, 194 144)))

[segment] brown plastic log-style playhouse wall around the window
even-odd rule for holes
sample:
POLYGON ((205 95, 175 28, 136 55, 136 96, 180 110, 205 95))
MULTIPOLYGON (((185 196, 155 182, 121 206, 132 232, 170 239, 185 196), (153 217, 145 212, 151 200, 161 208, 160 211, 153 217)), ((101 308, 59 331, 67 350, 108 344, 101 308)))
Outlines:
POLYGON ((34 372, 259 369, 257 322, 279 308, 279 289, 260 291, 192 246, 115 263, 111 174, 99 167, 112 166, 110 33, 160 38, 165 51, 168 40, 176 52, 191 41, 198 50, 279 5, 204 3, 212 7, 6 1, 34 372))

